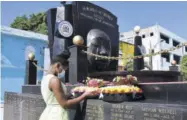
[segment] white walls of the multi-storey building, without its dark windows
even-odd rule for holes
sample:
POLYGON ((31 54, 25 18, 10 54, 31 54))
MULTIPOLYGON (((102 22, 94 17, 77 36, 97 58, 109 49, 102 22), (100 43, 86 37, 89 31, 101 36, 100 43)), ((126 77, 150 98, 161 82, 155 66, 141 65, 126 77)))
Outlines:
MULTIPOLYGON (((177 36, 176 34, 168 31, 167 29, 159 26, 159 25, 154 25, 145 29, 141 29, 140 35, 145 35, 145 38, 142 38, 142 43, 146 48, 146 53, 149 53, 150 46, 154 49, 154 52, 158 52, 160 50, 165 50, 173 47, 173 40, 178 41, 179 43, 186 42, 185 39, 177 36), (154 35, 150 36, 150 33, 153 32, 154 35), (169 44, 167 44, 165 41, 161 42, 160 39, 160 33, 166 35, 167 37, 170 38, 169 44)), ((123 32, 120 33, 120 41, 125 41, 134 44, 134 32, 129 31, 129 32, 123 32), (121 37, 123 35, 123 37, 121 37), (132 40, 133 39, 133 40, 132 40)), ((173 61, 173 54, 183 56, 184 54, 187 54, 185 52, 185 47, 177 49, 175 51, 170 52, 170 61, 167 62, 165 59, 161 57, 161 55, 156 55, 152 57, 153 60, 153 70, 169 70, 169 66, 171 65, 170 63, 173 61)), ((146 62, 149 63, 149 58, 144 58, 146 62)))

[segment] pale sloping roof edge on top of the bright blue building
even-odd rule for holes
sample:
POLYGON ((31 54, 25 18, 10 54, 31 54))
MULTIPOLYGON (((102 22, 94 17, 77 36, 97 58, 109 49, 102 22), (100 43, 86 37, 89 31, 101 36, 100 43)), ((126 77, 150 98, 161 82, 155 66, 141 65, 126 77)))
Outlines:
POLYGON ((48 42, 47 35, 31 32, 31 31, 19 30, 19 29, 7 27, 7 26, 1 26, 1 33, 7 34, 7 35, 25 37, 25 38, 32 38, 36 40, 43 40, 45 42, 48 42))

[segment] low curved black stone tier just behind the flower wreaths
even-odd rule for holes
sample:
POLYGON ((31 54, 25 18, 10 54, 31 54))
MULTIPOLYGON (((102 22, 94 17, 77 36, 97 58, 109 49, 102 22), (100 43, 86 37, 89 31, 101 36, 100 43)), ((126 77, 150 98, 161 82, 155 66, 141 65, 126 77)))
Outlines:
POLYGON ((139 82, 177 82, 181 81, 180 72, 176 71, 106 71, 90 73, 88 76, 92 78, 101 78, 107 81, 112 81, 116 76, 133 75, 138 78, 139 82))

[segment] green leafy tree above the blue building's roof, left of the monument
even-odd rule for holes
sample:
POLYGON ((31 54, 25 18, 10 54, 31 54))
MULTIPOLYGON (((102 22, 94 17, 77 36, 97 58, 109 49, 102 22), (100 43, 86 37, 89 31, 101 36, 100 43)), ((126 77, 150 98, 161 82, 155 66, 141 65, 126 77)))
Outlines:
POLYGON ((14 22, 10 25, 12 28, 33 31, 41 34, 47 34, 47 26, 45 24, 45 14, 37 13, 16 17, 14 22))

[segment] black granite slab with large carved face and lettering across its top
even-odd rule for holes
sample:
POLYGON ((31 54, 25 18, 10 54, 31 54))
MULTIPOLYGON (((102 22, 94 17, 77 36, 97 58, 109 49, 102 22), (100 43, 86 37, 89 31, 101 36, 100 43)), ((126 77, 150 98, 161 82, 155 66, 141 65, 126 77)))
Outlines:
MULTIPOLYGON (((111 12, 89 2, 73 2, 74 34, 85 39, 88 52, 118 56, 117 18, 111 12)), ((88 56, 88 72, 117 70, 117 61, 88 56)))

